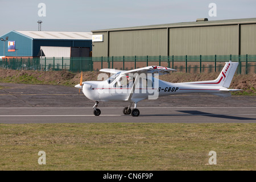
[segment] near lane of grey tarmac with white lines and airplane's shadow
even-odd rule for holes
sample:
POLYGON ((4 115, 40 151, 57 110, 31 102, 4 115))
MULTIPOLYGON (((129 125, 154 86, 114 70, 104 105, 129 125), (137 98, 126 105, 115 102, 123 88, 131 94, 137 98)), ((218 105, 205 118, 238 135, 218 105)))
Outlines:
POLYGON ((141 107, 141 115, 123 115, 120 107, 101 108, 93 115, 88 107, 27 107, 0 111, 0 123, 253 123, 256 107, 141 107))

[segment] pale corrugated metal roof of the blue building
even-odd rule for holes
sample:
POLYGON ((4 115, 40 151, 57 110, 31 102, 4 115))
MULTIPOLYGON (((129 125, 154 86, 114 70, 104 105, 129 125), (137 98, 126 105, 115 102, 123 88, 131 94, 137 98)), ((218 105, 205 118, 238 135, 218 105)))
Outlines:
POLYGON ((92 40, 92 32, 16 31, 32 39, 92 40))

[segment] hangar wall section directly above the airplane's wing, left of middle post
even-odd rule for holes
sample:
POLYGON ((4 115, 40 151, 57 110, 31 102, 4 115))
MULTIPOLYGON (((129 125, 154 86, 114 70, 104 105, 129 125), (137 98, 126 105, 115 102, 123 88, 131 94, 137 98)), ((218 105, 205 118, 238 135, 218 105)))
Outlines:
POLYGON ((109 56, 155 56, 166 53, 166 28, 109 32, 109 56))

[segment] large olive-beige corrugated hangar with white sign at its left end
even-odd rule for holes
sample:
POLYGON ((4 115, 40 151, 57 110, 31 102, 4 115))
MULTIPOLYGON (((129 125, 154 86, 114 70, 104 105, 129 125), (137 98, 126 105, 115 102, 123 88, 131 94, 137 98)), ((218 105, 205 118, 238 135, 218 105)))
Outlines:
POLYGON ((256 18, 94 30, 93 57, 256 55, 256 18))

